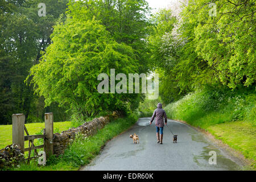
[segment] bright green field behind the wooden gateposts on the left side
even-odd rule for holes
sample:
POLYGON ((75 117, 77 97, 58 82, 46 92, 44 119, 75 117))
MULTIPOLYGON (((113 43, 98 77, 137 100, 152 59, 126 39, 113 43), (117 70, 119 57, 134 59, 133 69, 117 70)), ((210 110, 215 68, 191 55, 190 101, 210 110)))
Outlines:
MULTIPOLYGON (((35 135, 43 132, 44 123, 28 123, 25 124, 28 133, 35 135)), ((53 131, 59 133, 68 130, 71 127, 71 122, 54 122, 53 131)), ((12 125, 0 125, 0 149, 5 148, 7 145, 12 144, 12 125)), ((26 134, 25 134, 26 135, 26 134)), ((38 144, 39 141, 36 142, 38 144)), ((28 147, 28 141, 25 142, 25 147, 28 147)))

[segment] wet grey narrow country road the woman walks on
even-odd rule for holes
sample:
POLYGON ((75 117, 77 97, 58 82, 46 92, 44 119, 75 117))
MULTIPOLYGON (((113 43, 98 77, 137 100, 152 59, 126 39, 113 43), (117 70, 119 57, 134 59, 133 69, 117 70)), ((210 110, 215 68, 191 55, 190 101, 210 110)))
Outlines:
POLYGON ((156 143, 155 124, 150 118, 140 118, 125 133, 110 140, 88 166, 81 170, 115 171, 165 171, 165 170, 237 170, 241 167, 233 162, 221 148, 209 142, 204 134, 183 123, 168 119, 164 127, 163 144, 156 143), (146 127, 146 128, 145 128, 146 127), (177 143, 172 134, 177 134, 177 143), (139 144, 133 144, 130 134, 138 134, 139 144), (217 164, 209 164, 210 151, 217 154, 217 164))

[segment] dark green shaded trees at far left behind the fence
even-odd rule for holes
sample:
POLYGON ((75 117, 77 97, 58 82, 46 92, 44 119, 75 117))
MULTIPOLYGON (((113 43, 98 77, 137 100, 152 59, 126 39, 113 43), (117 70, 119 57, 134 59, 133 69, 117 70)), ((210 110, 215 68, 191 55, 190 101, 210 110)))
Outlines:
POLYGON ((41 51, 51 43, 52 26, 65 12, 68 0, 44 1, 45 17, 38 16, 39 2, 0 2, 0 123, 10 123, 13 113, 24 113, 26 118, 36 114, 35 104, 42 101, 34 96, 31 86, 24 84, 24 79, 32 65, 38 63, 41 51))

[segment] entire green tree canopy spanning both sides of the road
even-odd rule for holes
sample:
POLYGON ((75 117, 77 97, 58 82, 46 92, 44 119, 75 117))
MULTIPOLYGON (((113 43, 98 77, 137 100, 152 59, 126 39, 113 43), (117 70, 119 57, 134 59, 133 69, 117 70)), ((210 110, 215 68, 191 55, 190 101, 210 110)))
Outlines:
POLYGON ((39 0, 0 1, 0 123, 138 109, 144 94, 98 93, 110 69, 159 73, 163 104, 206 85, 255 89, 255 1, 179 2, 151 15, 146 0, 46 0, 39 16, 39 0))

